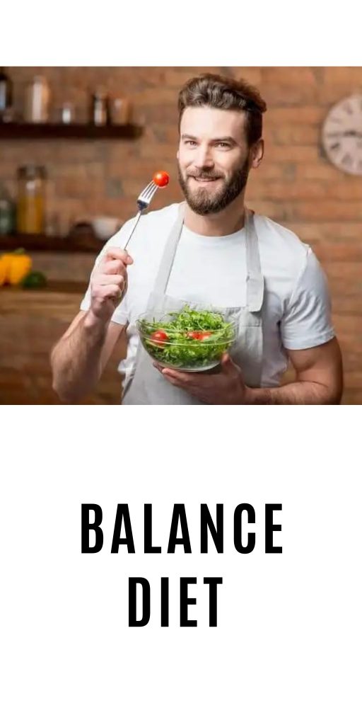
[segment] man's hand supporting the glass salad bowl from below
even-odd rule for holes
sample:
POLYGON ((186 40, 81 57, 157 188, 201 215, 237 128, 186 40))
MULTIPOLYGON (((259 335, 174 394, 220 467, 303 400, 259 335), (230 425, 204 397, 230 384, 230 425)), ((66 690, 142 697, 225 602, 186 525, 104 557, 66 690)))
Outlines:
POLYGON ((178 370, 162 368, 153 363, 160 370, 165 380, 172 385, 182 388, 206 405, 249 405, 251 391, 245 386, 240 368, 225 354, 221 361, 219 373, 180 373, 178 370))

